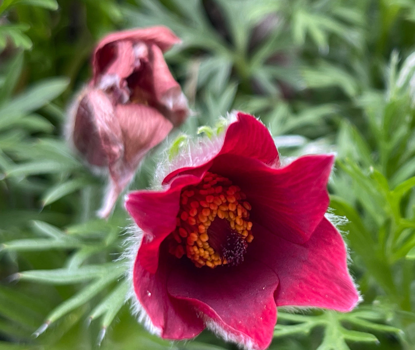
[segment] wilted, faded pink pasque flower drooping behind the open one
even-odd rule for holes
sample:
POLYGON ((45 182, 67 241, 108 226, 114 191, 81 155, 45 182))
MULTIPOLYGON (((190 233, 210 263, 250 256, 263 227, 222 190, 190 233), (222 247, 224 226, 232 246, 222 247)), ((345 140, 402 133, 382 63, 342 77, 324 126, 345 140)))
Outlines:
POLYGON ((163 52, 180 40, 165 27, 117 32, 93 53, 93 78, 71 111, 70 137, 90 165, 109 170, 107 216, 144 155, 188 116, 163 52))

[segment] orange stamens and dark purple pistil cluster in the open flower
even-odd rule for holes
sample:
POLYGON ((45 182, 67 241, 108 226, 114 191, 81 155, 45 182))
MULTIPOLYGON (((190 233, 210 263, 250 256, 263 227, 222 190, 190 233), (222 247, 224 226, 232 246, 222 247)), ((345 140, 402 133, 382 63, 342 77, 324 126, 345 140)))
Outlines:
POLYGON ((239 265, 254 239, 251 205, 244 199, 238 186, 213 173, 183 189, 177 226, 168 237, 169 252, 179 259, 186 254, 197 267, 239 265))

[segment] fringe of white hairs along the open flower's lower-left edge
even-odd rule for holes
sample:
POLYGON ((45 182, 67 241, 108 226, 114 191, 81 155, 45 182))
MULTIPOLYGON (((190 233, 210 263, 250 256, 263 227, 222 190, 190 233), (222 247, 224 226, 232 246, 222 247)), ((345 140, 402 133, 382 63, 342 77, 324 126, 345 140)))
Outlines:
POLYGON ((137 225, 131 224, 126 229, 126 235, 127 238, 123 243, 125 250, 120 257, 120 259, 127 260, 129 262, 126 276, 126 279, 129 283, 129 288, 126 295, 126 300, 131 302, 131 312, 132 315, 137 318, 137 321, 141 323, 151 334, 155 334, 160 337, 161 329, 154 326, 153 322, 151 322, 150 316, 147 314, 144 307, 140 304, 134 292, 134 262, 138 249, 143 240, 144 233, 137 227, 137 225))

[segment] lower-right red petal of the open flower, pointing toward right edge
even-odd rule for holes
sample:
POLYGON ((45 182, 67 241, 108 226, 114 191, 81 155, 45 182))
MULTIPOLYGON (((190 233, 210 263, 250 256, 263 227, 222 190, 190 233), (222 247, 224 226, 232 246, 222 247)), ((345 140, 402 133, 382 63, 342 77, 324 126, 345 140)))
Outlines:
POLYGON ((359 294, 347 270, 344 241, 326 218, 301 245, 274 236, 256 222, 252 231, 255 238, 248 254, 277 273, 277 306, 317 306, 338 311, 356 306, 359 294))

